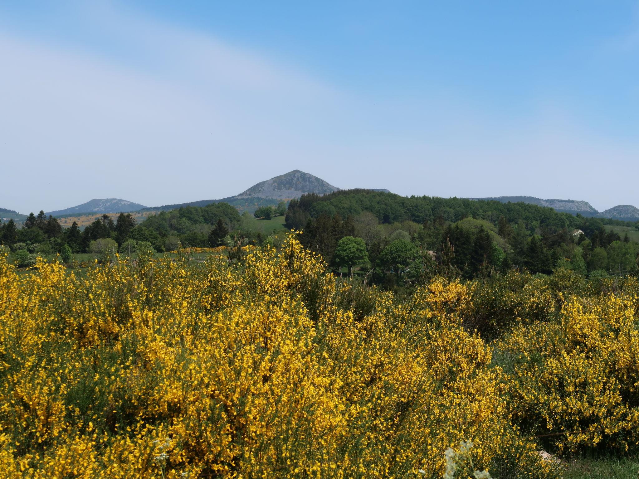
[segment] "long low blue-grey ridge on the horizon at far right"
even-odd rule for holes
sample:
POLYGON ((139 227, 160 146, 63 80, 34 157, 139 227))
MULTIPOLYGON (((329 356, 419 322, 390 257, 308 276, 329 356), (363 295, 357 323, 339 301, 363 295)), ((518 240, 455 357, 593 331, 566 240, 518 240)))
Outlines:
POLYGON ((535 198, 534 196, 498 196, 469 199, 476 201, 501 201, 502 203, 523 202, 528 204, 538 204, 539 206, 553 208, 559 213, 570 213, 571 215, 579 214, 584 217, 609 218, 622 221, 639 220, 639 209, 629 204, 614 206, 613 208, 606 209, 606 211, 599 213, 599 211, 593 208, 589 202, 580 200, 541 199, 535 198))

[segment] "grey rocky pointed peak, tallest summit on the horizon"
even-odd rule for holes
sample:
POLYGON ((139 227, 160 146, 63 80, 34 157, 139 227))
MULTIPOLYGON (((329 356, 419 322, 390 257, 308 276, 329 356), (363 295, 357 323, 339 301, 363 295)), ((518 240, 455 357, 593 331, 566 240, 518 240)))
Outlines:
POLYGON ((240 193, 236 198, 299 198, 304 193, 325 195, 339 190, 326 181, 304 171, 293 170, 275 178, 261 181, 240 193))

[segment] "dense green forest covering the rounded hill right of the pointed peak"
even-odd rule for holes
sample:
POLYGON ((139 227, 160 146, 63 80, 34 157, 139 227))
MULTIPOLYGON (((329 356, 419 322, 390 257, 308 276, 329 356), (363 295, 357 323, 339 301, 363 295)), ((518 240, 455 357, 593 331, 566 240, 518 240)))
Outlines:
POLYGON ((370 190, 303 195, 286 213, 286 225, 304 231, 302 243, 329 264, 356 266, 346 264, 340 245, 344 237, 360 238, 366 257, 357 261, 373 278, 395 282, 512 268, 552 273, 566 267, 583 276, 636 271, 639 244, 606 231, 612 224, 639 229, 639 223, 575 217, 534 204, 370 190))

